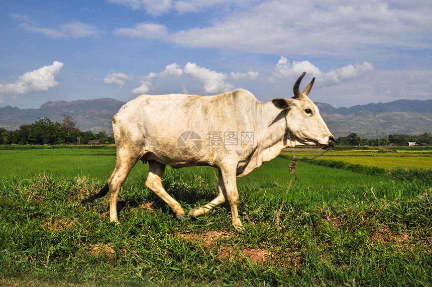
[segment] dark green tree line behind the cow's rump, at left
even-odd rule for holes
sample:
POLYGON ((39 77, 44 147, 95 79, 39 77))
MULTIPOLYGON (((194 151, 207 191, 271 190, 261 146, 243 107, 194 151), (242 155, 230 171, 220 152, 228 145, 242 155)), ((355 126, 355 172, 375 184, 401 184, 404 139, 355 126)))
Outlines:
POLYGON ((0 144, 87 144, 90 140, 99 140, 101 144, 114 143, 114 138, 107 136, 105 131, 97 134, 80 131, 72 117, 66 115, 61 123, 45 117, 15 131, 0 128, 0 144))

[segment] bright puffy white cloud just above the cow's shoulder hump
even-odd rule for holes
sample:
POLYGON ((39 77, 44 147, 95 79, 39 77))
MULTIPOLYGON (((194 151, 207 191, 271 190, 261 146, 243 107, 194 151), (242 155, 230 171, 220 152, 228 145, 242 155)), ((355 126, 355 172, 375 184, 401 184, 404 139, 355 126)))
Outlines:
POLYGON ((204 83, 204 90, 208 93, 225 92, 234 88, 232 84, 225 82, 227 74, 211 71, 195 63, 188 62, 184 67, 184 72, 204 83))

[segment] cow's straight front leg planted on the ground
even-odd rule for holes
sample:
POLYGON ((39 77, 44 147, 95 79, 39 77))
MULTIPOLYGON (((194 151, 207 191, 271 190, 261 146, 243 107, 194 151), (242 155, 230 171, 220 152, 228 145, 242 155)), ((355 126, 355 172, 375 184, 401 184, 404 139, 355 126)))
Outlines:
MULTIPOLYGON (((231 165, 233 166, 233 165, 231 165)), ((237 164, 233 167, 226 165, 221 168, 222 178, 227 193, 227 200, 231 207, 231 217, 233 218, 233 225, 235 228, 241 228, 242 221, 239 218, 237 204, 239 203, 239 192, 237 190, 237 164)))

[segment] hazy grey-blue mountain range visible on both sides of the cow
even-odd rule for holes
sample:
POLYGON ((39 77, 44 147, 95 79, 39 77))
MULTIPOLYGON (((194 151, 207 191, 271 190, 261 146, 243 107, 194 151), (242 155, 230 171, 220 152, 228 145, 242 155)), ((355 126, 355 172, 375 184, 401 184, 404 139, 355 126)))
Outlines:
MULTIPOLYGON (((21 110, 7 106, 0 108, 0 127, 16 130, 21 125, 32 124, 44 117, 61 123, 66 115, 71 116, 82 131, 96 133, 105 130, 111 134, 111 120, 124 104, 103 98, 47 102, 39 109, 21 110)), ((398 100, 350 108, 315 104, 336 138, 350 133, 364 138, 379 138, 390 134, 420 135, 432 132, 432 100, 398 100)))

